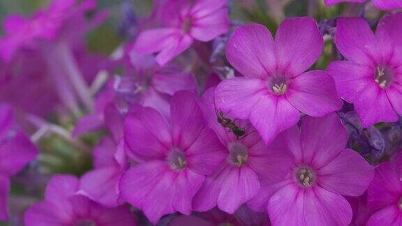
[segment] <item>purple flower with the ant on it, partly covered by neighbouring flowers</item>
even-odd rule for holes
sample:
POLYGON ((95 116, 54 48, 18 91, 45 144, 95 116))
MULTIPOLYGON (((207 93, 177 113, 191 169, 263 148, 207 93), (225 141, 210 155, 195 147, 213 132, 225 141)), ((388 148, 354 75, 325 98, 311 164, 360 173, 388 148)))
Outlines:
MULTIPOLYGON (((227 149, 227 159, 211 176, 207 176, 200 191, 193 200, 195 211, 207 211, 214 206, 234 213, 241 204, 258 195, 260 177, 267 176, 277 167, 290 166, 290 156, 282 154, 280 149, 268 149, 260 135, 248 121, 236 121, 246 129, 244 137, 238 139, 228 128, 218 123, 219 110, 214 107, 214 89, 209 89, 202 97, 204 116, 219 140, 227 149)), ((276 174, 278 179, 285 174, 276 174)))

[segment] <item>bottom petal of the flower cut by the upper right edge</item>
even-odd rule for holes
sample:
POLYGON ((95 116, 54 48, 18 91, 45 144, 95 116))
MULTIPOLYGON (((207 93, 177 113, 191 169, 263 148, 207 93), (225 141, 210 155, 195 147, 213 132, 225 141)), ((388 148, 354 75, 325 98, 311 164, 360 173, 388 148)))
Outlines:
POLYGON ((355 101, 355 111, 365 128, 378 122, 398 121, 387 93, 377 85, 367 86, 355 101))

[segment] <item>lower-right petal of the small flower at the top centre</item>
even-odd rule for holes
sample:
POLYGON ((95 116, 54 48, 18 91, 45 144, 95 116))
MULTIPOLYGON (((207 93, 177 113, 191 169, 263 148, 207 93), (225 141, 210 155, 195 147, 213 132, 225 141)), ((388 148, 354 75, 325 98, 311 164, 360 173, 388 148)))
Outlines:
POLYGON ((230 29, 229 13, 226 8, 216 10, 214 13, 199 19, 195 18, 190 29, 190 35, 202 42, 209 42, 230 29))

